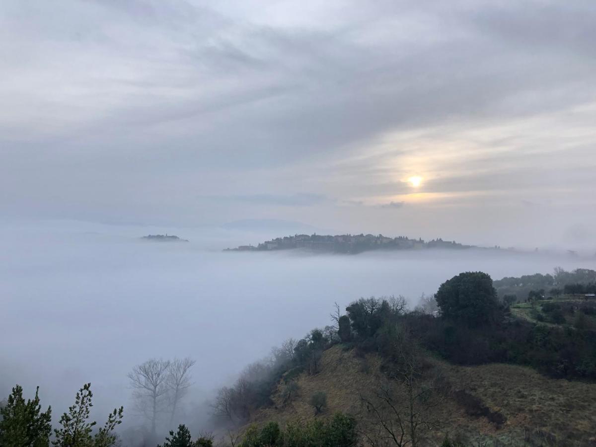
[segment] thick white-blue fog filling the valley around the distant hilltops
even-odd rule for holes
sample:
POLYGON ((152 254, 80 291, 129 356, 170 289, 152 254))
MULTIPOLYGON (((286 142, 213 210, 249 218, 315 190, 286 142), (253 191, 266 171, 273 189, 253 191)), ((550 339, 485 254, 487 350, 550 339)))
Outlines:
POLYGON ((40 386, 54 420, 89 381, 94 417, 126 409, 126 374, 151 357, 196 359, 193 396, 204 399, 272 346, 329 324, 334 302, 402 294, 414 306, 462 271, 498 279, 596 268, 594 259, 494 250, 222 252, 259 240, 223 229, 45 222, 0 230, 0 398, 15 383, 29 394, 40 386), (190 242, 139 240, 157 232, 190 242))

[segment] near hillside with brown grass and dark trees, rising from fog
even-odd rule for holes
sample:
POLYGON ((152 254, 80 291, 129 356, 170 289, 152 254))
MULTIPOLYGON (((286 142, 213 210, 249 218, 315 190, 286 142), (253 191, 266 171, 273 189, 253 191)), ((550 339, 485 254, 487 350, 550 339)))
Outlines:
POLYGON ((350 447, 595 445, 594 302, 533 293, 510 308, 492 284, 483 272, 445 281, 440 312, 393 296, 338 306, 334 325, 221 389, 216 414, 240 423, 243 447, 329 445, 312 433, 350 447))

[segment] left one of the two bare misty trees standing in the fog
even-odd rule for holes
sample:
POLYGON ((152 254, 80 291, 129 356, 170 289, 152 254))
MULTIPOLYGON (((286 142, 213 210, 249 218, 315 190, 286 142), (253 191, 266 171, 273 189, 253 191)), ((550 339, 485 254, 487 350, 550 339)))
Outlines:
POLYGON ((141 365, 136 365, 128 374, 131 386, 135 390, 133 397, 136 408, 150 421, 153 436, 156 434, 157 417, 167 405, 166 380, 169 368, 169 360, 149 359, 141 365))

